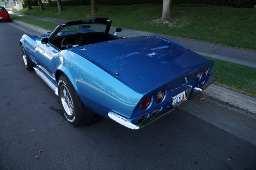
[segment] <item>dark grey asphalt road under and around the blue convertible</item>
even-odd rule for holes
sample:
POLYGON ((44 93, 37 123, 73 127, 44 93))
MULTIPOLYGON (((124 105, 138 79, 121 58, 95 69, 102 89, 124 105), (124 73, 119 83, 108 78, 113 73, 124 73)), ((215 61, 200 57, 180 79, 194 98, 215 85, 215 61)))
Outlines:
POLYGON ((141 130, 101 117, 74 127, 24 68, 27 33, 0 23, 0 170, 256 170, 255 119, 202 97, 141 130))

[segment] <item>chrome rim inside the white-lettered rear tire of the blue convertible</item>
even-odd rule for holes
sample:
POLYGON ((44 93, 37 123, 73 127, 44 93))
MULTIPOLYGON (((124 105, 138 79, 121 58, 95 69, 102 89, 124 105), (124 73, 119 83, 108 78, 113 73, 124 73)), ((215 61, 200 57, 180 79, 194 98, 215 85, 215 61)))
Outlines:
POLYGON ((70 96, 70 92, 66 85, 62 84, 60 86, 60 98, 63 108, 68 116, 73 116, 73 101, 70 96))

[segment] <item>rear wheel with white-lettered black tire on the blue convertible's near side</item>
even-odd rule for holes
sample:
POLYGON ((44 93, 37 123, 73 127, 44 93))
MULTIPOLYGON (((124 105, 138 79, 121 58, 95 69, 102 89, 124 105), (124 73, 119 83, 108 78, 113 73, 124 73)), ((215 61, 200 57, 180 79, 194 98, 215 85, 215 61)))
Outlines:
POLYGON ((93 113, 81 102, 76 89, 62 74, 58 79, 58 96, 66 119, 75 126, 80 126, 93 119, 93 113))

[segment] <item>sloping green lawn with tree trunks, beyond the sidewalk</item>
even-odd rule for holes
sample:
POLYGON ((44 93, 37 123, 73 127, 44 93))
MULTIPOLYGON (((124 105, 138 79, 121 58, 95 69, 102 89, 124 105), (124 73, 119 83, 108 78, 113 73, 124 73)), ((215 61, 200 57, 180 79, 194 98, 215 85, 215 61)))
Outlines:
MULTIPOLYGON (((204 42, 212 42, 256 51, 256 10, 253 8, 172 7, 175 26, 157 24, 162 6, 97 6, 96 17, 109 17, 113 26, 168 34, 204 42)), ((64 6, 26 8, 19 13, 65 20, 87 20, 90 6, 64 6)))

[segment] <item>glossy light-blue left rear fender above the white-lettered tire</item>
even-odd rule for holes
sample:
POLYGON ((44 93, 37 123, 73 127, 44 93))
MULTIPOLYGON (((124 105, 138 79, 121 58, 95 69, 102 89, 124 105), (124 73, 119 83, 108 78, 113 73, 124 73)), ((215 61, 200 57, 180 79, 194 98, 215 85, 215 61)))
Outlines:
POLYGON ((61 51, 56 71, 66 75, 88 109, 106 118, 109 111, 131 117, 143 96, 72 51, 61 51))

